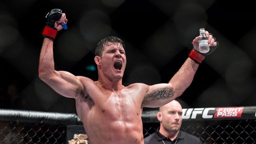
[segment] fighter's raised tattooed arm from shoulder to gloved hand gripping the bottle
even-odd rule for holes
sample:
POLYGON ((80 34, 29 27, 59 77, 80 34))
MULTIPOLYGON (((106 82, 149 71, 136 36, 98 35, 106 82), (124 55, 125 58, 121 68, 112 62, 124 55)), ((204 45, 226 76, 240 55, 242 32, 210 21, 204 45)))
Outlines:
POLYGON ((196 37, 192 44, 193 50, 189 54, 189 58, 184 62, 179 71, 172 77, 168 84, 156 84, 148 87, 148 91, 142 102, 143 107, 160 107, 175 98, 179 97, 191 84, 199 64, 203 61, 206 55, 212 53, 218 45, 215 38, 205 32, 208 38, 210 51, 207 54, 202 54, 198 51, 198 41, 200 36, 196 37))

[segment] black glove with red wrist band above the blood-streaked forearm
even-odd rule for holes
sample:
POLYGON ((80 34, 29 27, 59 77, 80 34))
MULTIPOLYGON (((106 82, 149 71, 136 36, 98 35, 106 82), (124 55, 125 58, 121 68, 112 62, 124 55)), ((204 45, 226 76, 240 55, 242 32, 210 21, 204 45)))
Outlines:
POLYGON ((42 36, 50 38, 52 40, 55 39, 58 30, 54 28, 55 22, 58 21, 62 16, 62 10, 60 9, 52 9, 45 16, 46 26, 44 27, 42 36))

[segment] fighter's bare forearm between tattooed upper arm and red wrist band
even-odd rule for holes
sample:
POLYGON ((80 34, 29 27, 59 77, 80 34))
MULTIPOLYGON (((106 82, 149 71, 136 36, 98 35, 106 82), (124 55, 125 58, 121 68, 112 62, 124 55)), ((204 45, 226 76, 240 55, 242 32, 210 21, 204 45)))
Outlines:
POLYGON ((197 64, 191 58, 187 58, 179 71, 169 81, 172 84, 175 94, 180 96, 191 84, 196 70, 199 64, 197 64))

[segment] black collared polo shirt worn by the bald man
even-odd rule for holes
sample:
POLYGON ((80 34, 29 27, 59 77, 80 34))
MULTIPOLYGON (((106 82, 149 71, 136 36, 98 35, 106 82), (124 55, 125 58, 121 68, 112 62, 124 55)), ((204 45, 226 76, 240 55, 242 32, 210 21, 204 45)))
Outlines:
POLYGON ((144 138, 145 144, 202 144, 199 138, 179 130, 178 136, 171 141, 169 138, 163 136, 157 128, 156 132, 144 138))

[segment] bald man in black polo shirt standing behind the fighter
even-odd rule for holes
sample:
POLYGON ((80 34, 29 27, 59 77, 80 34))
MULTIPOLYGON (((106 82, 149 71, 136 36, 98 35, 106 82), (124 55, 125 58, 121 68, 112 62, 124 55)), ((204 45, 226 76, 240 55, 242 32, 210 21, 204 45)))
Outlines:
POLYGON ((160 127, 144 138, 145 144, 202 144, 199 138, 180 131, 182 107, 176 100, 161 106, 157 113, 160 127))

